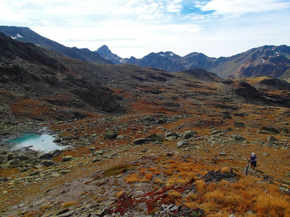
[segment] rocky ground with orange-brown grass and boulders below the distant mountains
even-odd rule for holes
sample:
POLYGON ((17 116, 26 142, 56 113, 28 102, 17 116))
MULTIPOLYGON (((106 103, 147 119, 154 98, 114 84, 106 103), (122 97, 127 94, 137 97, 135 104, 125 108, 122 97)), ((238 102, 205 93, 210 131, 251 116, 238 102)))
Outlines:
POLYGON ((289 216, 289 83, 0 43, 0 216, 289 216))

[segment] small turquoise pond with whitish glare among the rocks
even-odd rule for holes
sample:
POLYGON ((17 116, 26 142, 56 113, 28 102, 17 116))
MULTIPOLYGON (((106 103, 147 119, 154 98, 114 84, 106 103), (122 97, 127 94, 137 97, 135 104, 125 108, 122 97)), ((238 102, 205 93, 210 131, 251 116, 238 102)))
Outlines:
POLYGON ((50 152, 55 149, 64 149, 66 146, 58 146, 53 140, 55 138, 48 134, 24 134, 23 136, 8 140, 6 147, 11 150, 18 150, 24 147, 32 146, 30 149, 35 151, 50 152))

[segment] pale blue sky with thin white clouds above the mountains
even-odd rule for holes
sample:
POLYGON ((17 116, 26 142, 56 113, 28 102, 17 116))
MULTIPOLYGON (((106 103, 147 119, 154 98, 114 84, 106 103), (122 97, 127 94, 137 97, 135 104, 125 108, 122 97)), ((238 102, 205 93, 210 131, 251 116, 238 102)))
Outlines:
POLYGON ((0 0, 0 25, 122 58, 151 52, 232 56, 290 45, 290 0, 0 0))

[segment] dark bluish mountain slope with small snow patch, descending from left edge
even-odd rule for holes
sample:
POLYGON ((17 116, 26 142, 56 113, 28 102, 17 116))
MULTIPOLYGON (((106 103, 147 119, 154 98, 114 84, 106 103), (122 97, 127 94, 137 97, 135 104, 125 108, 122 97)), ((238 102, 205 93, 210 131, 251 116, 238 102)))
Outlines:
POLYGON ((33 32, 28 27, 0 26, 0 31, 18 41, 40 45, 71 58, 87 62, 112 64, 111 61, 102 58, 97 52, 92 52, 87 48, 79 49, 77 47, 66 47, 33 32))

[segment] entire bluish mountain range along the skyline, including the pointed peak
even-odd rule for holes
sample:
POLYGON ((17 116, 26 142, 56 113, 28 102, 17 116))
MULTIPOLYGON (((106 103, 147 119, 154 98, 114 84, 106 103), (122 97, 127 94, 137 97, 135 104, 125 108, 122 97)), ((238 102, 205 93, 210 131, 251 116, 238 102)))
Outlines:
POLYGON ((66 47, 45 38, 28 27, 0 26, 0 31, 19 41, 30 42, 70 58, 106 64, 134 64, 168 72, 204 68, 221 78, 255 78, 270 76, 290 81, 290 47, 264 45, 230 57, 208 57, 193 52, 179 56, 173 52, 150 53, 143 58, 121 58, 103 45, 96 51, 88 48, 66 47))

